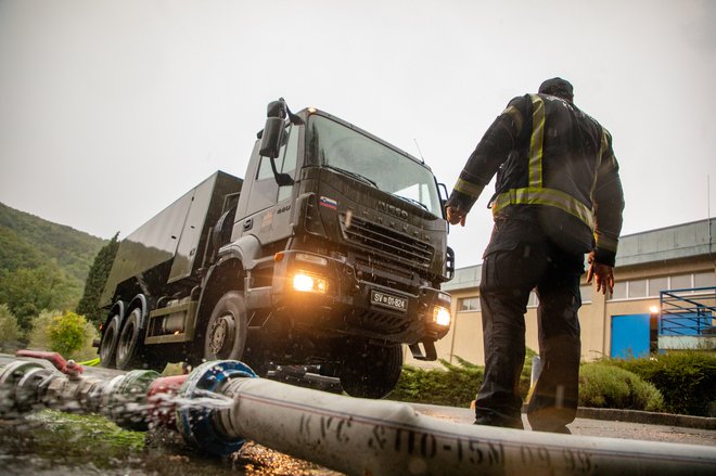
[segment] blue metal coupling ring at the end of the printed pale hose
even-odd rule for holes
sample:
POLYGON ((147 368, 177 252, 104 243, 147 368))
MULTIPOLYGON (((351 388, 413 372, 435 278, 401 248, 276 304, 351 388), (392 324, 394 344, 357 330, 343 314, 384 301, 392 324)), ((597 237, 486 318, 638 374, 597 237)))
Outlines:
POLYGON ((178 394, 182 401, 177 407, 177 429, 184 441, 217 456, 239 450, 244 439, 228 436, 221 425, 221 410, 233 406, 223 391, 232 379, 257 377, 248 365, 235 360, 204 362, 194 369, 178 394))

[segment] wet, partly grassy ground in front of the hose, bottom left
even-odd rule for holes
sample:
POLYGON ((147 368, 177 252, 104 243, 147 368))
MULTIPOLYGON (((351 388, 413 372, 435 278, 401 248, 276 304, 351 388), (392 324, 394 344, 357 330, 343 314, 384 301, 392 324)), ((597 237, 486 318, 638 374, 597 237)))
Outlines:
POLYGON ((175 433, 127 432, 102 416, 57 411, 0 421, 0 474, 340 476, 253 442, 218 460, 188 450, 175 433))

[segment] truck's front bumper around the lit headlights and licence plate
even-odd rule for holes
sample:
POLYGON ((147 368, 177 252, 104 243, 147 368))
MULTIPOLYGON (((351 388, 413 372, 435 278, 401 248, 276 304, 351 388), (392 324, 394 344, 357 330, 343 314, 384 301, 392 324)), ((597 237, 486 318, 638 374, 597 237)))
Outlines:
MULTIPOLYGON (((435 309, 450 309, 450 296, 429 286, 389 286, 371 281, 344 259, 306 252, 282 252, 273 268, 271 308, 296 326, 324 334, 348 334, 397 344, 432 343, 449 323, 435 322, 435 309), (296 291, 297 273, 324 280, 296 291)), ((388 276, 389 278, 389 276, 388 276)), ((384 275, 382 281, 388 281, 384 275)))

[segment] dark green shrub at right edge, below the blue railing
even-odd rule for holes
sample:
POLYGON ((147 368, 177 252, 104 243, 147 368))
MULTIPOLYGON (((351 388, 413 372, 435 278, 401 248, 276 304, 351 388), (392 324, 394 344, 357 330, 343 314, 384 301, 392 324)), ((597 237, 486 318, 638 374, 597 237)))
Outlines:
POLYGON ((664 396, 666 411, 712 416, 716 398, 716 355, 685 350, 629 360, 610 360, 652 383, 664 396))

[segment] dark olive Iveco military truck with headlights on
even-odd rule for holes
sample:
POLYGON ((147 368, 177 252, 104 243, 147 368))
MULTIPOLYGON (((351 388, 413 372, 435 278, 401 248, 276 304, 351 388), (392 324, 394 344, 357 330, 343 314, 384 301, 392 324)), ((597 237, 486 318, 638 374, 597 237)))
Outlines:
POLYGON ((120 242, 102 365, 315 365, 351 396, 387 395, 401 345, 435 360, 450 325, 445 192, 369 132, 271 102, 243 180, 217 171, 120 242))

